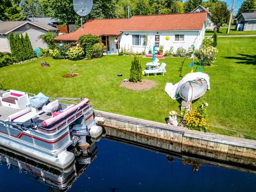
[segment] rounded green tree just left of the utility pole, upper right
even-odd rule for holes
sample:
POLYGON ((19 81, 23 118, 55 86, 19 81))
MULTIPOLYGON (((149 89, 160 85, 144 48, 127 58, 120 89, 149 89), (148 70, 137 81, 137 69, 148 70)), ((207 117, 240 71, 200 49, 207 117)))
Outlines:
POLYGON ((212 22, 217 27, 218 32, 220 27, 228 22, 229 15, 227 4, 225 2, 217 2, 212 10, 212 22))

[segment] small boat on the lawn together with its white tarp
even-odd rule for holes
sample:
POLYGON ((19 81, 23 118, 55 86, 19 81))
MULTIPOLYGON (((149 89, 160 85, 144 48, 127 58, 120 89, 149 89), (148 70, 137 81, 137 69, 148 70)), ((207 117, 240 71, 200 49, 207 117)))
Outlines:
POLYGON ((179 83, 166 83, 165 86, 165 92, 172 99, 181 97, 185 101, 193 101, 202 97, 207 89, 210 90, 210 77, 201 72, 189 73, 179 83))

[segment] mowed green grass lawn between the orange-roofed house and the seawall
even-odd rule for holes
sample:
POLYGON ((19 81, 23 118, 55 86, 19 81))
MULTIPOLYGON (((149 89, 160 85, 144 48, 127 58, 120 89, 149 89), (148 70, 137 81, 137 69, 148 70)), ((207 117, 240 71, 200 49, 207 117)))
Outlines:
MULTIPOLYGON (((232 37, 218 39, 217 60, 205 67, 210 75, 211 90, 193 103, 197 107, 206 101, 210 124, 253 135, 255 131, 255 80, 256 37, 232 37)), ((190 59, 166 58, 165 76, 146 77, 157 82, 148 91, 133 92, 119 87, 124 78, 129 78, 132 57, 108 55, 93 60, 53 60, 43 58, 21 65, 0 68, 0 83, 7 89, 26 92, 43 92, 53 97, 88 97, 95 109, 112 113, 165 122, 170 110, 178 110, 180 101, 172 100, 164 91, 167 82, 177 83, 189 73, 190 59), (42 68, 41 62, 50 63, 42 68), (76 65, 76 66, 74 66, 76 65), (80 75, 63 78, 69 69, 80 75), (117 74, 123 74, 118 77, 117 74)), ((141 58, 142 67, 148 58, 141 58)), ((236 132, 210 127, 209 132, 248 137, 236 132)))

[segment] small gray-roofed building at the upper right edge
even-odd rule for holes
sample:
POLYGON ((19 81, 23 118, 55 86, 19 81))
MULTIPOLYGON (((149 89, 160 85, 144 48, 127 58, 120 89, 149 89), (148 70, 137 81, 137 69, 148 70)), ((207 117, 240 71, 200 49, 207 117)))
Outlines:
POLYGON ((236 30, 256 30, 256 12, 241 13, 236 20, 236 30))

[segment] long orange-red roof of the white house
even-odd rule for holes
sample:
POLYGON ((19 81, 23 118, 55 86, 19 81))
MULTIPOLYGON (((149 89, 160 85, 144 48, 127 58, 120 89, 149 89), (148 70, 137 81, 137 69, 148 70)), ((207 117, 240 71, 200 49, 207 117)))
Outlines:
POLYGON ((141 15, 128 19, 94 19, 73 33, 59 35, 57 41, 77 41, 79 36, 119 35, 122 31, 201 30, 206 12, 162 15, 141 15))

